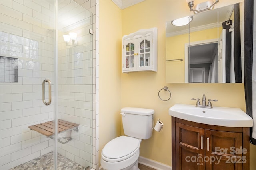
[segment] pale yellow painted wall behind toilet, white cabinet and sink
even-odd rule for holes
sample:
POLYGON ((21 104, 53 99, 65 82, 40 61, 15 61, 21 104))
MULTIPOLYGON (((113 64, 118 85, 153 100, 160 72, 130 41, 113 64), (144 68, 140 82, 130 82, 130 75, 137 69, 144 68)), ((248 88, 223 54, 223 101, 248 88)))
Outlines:
MULTIPOLYGON (((220 1, 216 7, 238 0, 220 1)), ((162 132, 153 132, 140 146, 140 156, 171 166, 171 117, 168 109, 175 103, 195 104, 191 98, 218 99, 214 106, 238 107, 245 111, 244 84, 166 84, 165 22, 192 15, 185 0, 146 0, 118 10, 110 0, 100 0, 100 152, 106 142, 123 135, 122 107, 155 110, 155 121, 164 123, 162 132), (178 9, 178 10, 177 10, 178 9), (122 17, 120 19, 120 17, 122 17), (120 24, 120 22, 122 24, 120 24), (139 29, 158 28, 158 72, 121 73, 122 36, 139 29), (121 31, 121 33, 120 33, 121 31), (113 48, 114 47, 117 49, 113 48), (164 102, 158 91, 168 86, 172 98, 164 102), (121 133, 122 131, 122 133, 121 133)), ((162 93, 162 97, 167 97, 162 93)), ((250 145, 251 165, 256 167, 256 147, 250 145)), ((256 168, 254 168, 256 169, 256 168)))

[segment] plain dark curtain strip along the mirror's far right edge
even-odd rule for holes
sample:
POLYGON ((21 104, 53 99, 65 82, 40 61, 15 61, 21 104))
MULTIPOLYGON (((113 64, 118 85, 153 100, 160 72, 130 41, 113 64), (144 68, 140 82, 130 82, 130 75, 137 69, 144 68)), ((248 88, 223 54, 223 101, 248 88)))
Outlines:
POLYGON ((234 70, 236 83, 242 83, 241 66, 241 35, 240 35, 240 10, 239 3, 234 9, 234 70))

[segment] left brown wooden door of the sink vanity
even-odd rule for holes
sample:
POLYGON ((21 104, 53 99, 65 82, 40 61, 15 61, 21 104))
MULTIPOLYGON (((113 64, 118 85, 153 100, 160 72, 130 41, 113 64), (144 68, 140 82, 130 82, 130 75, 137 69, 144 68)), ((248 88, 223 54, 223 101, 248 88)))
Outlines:
POLYGON ((176 123, 176 170, 204 170, 204 129, 176 123))

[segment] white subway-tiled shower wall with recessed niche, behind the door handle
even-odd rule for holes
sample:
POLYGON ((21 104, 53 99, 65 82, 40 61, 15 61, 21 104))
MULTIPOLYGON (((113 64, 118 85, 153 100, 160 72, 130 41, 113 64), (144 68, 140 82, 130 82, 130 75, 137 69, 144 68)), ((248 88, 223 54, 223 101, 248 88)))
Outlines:
POLYGON ((0 55, 18 58, 18 82, 0 83, 1 170, 53 150, 51 139, 28 128, 53 119, 54 96, 50 106, 42 103, 42 81, 55 88, 52 4, 0 1, 0 55))

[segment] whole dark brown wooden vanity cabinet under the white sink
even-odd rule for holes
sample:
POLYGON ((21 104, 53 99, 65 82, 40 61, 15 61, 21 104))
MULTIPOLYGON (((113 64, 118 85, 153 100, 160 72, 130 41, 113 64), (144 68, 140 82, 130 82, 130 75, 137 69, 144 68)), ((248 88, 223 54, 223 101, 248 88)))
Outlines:
POLYGON ((172 117, 172 170, 249 170, 249 128, 172 117))

